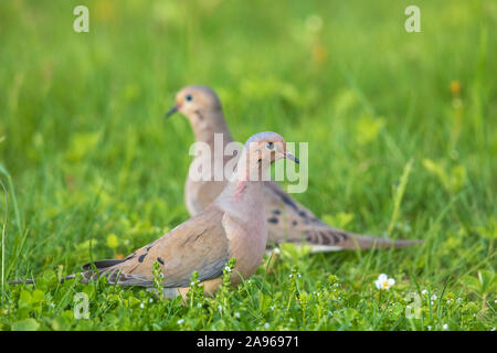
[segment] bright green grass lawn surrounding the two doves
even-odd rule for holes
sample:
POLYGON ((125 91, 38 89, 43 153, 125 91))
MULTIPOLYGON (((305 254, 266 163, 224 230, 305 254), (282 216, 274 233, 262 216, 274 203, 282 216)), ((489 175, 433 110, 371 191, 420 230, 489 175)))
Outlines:
POLYGON ((495 1, 415 1, 422 33, 404 31, 413 1, 262 0, 85 1, 91 31, 75 33, 81 2, 0 3, 2 260, 9 280, 40 278, 6 285, 0 330, 496 327, 495 1), (220 94, 237 140, 309 141, 309 188, 295 197, 325 221, 425 244, 287 246, 272 270, 186 307, 57 284, 188 218, 193 136, 163 113, 192 83, 220 94), (374 287, 382 272, 388 291, 374 287), (73 315, 82 291, 88 320, 73 315), (420 319, 404 314, 412 292, 420 319))

